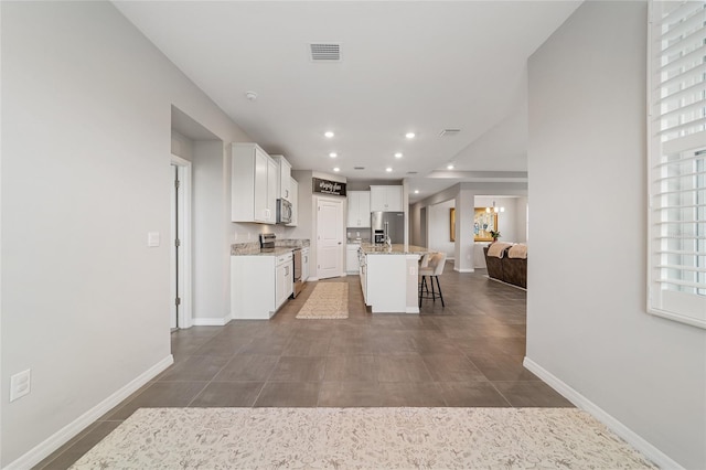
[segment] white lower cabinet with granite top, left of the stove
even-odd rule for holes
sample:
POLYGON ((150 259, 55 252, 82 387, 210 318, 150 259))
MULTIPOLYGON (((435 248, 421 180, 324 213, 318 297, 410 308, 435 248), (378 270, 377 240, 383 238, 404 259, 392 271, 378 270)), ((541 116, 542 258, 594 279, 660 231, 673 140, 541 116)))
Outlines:
POLYGON ((268 320, 292 293, 292 255, 231 256, 231 316, 268 320))

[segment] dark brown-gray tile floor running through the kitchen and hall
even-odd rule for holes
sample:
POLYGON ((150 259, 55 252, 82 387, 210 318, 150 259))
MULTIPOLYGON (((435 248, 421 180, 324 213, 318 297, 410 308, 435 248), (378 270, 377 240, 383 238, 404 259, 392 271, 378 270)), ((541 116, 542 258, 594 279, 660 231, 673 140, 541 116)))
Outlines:
POLYGON ((440 277, 446 307, 370 313, 357 276, 349 318, 298 320, 309 284, 269 321, 172 333, 174 364, 38 469, 64 469, 140 407, 501 406, 569 407, 522 366, 526 292, 484 270, 440 277))

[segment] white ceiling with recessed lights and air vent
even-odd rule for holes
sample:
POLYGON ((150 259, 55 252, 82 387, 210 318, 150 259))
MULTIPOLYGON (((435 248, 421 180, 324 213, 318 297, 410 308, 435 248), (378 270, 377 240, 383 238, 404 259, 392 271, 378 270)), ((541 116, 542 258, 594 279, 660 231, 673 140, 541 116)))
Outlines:
POLYGON ((526 61, 580 1, 114 3, 266 151, 293 169, 408 178, 414 202, 526 172, 526 61), (312 62, 312 42, 341 44, 341 61, 312 62))

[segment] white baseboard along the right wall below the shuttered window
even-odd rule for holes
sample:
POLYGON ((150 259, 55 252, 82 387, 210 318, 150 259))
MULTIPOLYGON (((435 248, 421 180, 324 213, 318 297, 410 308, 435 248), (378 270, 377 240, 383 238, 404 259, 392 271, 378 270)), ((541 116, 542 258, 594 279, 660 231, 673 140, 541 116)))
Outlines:
POLYGON ((605 424, 610 430, 616 432, 622 439, 624 439, 632 447, 642 452, 648 459, 652 460, 660 468, 663 469, 683 469, 682 466, 672 460, 666 453, 644 440, 640 435, 630 429, 628 426, 620 423, 618 419, 609 415, 605 409, 596 405, 590 399, 571 388, 561 380, 556 377, 546 368, 525 356, 523 365, 537 377, 546 382, 552 388, 561 394, 566 399, 571 402, 578 408, 585 410, 602 424, 605 424))

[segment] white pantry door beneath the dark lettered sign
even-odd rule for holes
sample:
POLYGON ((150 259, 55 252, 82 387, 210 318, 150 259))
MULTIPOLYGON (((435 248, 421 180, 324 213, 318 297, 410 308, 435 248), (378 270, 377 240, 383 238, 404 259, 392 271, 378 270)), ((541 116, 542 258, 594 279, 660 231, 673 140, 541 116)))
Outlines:
POLYGON ((343 275, 343 202, 319 199, 317 202, 317 277, 343 275))

